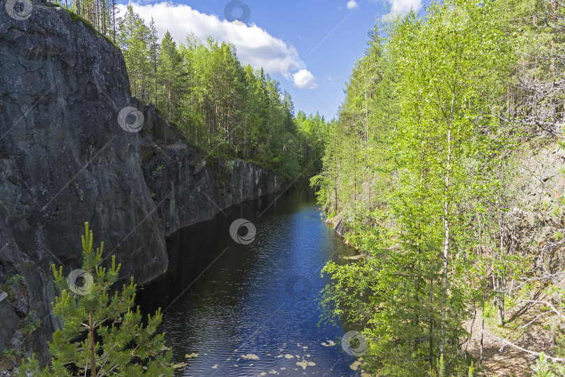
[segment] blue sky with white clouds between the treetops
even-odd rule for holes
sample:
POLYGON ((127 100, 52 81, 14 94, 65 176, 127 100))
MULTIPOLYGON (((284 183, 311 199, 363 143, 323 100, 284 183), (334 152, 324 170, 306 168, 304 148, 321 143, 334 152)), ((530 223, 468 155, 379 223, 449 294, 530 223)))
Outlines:
POLYGON ((154 17, 160 38, 169 30, 182 42, 192 31, 202 40, 211 35, 234 43, 244 64, 263 66, 289 91, 295 112, 319 112, 328 120, 375 21, 411 7, 423 12, 423 3, 429 1, 130 1, 146 23, 154 17))

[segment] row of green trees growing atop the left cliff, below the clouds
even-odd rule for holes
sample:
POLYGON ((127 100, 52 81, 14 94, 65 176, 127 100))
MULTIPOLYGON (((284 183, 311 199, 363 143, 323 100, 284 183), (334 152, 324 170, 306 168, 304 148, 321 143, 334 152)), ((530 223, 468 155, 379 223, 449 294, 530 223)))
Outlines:
POLYGON ((131 6, 116 38, 132 94, 155 103, 206 156, 257 161, 289 179, 321 169, 324 118, 294 117, 290 95, 262 69, 243 66, 234 45, 192 34, 176 43, 168 32, 158 43, 153 20, 147 27, 131 6))

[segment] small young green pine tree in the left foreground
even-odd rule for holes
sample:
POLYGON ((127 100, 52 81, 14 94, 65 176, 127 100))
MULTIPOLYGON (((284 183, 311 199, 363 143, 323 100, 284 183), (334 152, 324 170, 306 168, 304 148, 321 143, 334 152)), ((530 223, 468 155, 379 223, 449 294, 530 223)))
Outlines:
MULTIPOLYGON (((84 224, 82 235, 83 284, 68 281, 63 267, 53 265, 54 280, 61 295, 52 303, 53 313, 63 328, 49 342, 51 364, 41 369, 35 355, 24 361, 20 376, 172 376, 171 353, 165 334, 156 334, 163 318, 160 310, 142 323, 140 308, 132 310, 135 299, 133 278, 121 293, 111 295, 120 265, 112 256, 111 267, 101 267, 104 244, 93 250, 93 233, 84 224)), ((35 324, 33 324, 35 326, 35 324)))

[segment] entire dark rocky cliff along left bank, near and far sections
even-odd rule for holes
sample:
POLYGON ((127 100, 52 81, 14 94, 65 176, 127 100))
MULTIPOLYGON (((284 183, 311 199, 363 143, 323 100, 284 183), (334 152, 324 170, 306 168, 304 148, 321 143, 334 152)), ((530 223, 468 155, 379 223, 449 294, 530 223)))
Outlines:
POLYGON ((121 52, 62 8, 35 4, 18 19, 3 5, 0 36, 0 355, 46 360, 50 266, 80 268, 84 221, 121 275, 144 283, 167 269, 166 235, 280 182, 188 146, 130 96, 121 52), (141 132, 120 126, 126 107, 144 112, 141 132))

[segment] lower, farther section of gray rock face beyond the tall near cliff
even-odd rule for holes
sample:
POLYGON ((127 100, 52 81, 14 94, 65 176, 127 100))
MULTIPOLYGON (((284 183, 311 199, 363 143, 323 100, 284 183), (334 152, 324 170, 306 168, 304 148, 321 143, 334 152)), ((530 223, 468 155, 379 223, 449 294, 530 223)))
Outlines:
POLYGON ((156 135, 163 136, 167 125, 151 107, 140 110, 146 119, 156 119, 142 142, 142 168, 165 235, 282 188, 272 170, 242 160, 218 161, 181 140, 162 145, 156 135))

